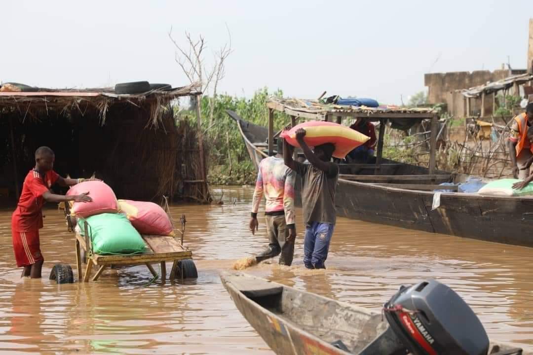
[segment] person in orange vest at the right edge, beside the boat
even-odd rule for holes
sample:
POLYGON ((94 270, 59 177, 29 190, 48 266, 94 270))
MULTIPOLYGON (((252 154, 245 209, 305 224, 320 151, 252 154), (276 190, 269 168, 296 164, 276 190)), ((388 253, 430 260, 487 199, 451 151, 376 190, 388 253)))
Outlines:
MULTIPOLYGON (((524 180, 529 176, 528 161, 533 158, 533 144, 528 139, 528 129, 533 126, 533 102, 526 106, 526 112, 513 118, 508 147, 513 177, 524 180), (527 167, 526 167, 527 166, 527 167)), ((529 164, 531 165, 531 163, 529 164)))

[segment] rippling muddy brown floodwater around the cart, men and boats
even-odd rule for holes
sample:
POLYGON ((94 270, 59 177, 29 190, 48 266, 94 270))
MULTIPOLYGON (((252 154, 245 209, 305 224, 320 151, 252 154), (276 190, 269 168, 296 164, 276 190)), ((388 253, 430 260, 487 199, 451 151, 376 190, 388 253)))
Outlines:
MULTIPOLYGON (((220 189, 215 189, 220 195, 220 189)), ((10 210, 0 210, 1 353, 271 354, 223 289, 219 273, 265 246, 264 221, 247 230, 251 188, 226 188, 224 205, 175 206, 187 216, 185 244, 199 278, 146 285, 143 266, 107 270, 98 282, 58 286, 57 262, 75 265, 62 213, 46 211, 43 279, 20 279, 11 246, 10 210)), ((298 211, 297 216, 301 216, 298 211)), ((401 284, 436 278, 478 313, 489 336, 533 344, 532 250, 340 218, 326 271, 305 270, 298 226, 292 267, 247 271, 301 290, 376 310, 401 284)), ((169 270, 170 265, 167 266, 169 270)))

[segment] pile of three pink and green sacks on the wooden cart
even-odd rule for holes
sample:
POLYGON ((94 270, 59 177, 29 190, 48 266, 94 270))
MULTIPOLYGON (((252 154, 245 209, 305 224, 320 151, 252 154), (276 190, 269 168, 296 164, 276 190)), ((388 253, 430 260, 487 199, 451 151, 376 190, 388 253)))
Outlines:
POLYGON ((152 202, 117 201, 103 181, 84 181, 68 195, 89 193, 92 202, 70 202, 71 216, 78 218, 77 230, 84 234, 85 221, 97 254, 139 254, 146 250, 142 234, 174 235, 165 211, 152 202), (123 213, 120 213, 123 212, 123 213))

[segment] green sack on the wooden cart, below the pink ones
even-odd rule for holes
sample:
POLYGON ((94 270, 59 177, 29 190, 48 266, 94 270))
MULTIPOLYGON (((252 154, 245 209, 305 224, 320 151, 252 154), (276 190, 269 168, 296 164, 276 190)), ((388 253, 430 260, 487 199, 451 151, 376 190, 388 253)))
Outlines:
MULTIPOLYGON (((140 254, 146 249, 141 235, 124 214, 101 213, 86 220, 96 254, 140 254)), ((79 218, 78 224, 83 226, 84 221, 79 218)))

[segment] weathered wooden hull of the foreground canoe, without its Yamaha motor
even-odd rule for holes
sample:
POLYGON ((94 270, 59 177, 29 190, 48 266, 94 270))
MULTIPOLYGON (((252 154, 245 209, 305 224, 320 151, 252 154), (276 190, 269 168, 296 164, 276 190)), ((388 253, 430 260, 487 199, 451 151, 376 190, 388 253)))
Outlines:
MULTIPOLYGON (((237 309, 278 355, 357 354, 388 327, 381 313, 270 282, 244 273, 222 273, 237 309), (342 341, 349 352, 332 343, 342 341)), ((522 348, 490 343, 489 354, 522 348)))

